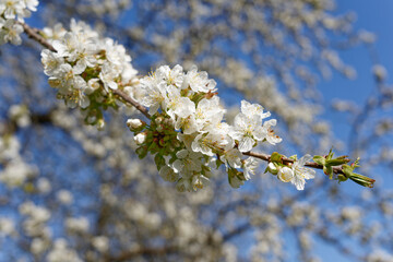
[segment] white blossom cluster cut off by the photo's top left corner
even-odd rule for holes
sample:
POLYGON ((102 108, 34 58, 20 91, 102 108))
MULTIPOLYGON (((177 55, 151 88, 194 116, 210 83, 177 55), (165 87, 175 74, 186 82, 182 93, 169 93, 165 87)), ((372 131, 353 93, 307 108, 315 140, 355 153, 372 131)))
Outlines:
POLYGON ((0 0, 0 45, 21 45, 24 17, 37 11, 38 0, 0 0))

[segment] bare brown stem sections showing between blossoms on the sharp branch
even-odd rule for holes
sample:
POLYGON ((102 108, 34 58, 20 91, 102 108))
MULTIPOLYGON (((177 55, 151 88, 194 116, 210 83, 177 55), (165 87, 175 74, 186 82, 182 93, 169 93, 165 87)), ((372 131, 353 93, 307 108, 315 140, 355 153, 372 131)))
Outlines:
MULTIPOLYGON (((43 37, 39 35, 39 29, 37 28, 33 28, 31 26, 28 26, 27 24, 24 23, 20 23, 23 28, 24 32, 26 33, 26 35, 28 35, 29 38, 38 41, 41 46, 48 48, 51 51, 56 52, 56 49, 43 37)), ((122 98, 124 102, 127 102, 128 104, 130 104, 131 106, 135 107, 139 111, 141 111, 146 118, 151 118, 151 116, 148 115, 148 110, 142 106, 141 104, 139 104, 135 99, 133 99, 132 97, 130 97, 129 95, 127 95, 123 91, 121 90, 114 90, 112 93, 117 96, 119 96, 120 98, 122 98)), ((263 154, 263 153, 254 153, 254 152, 246 152, 242 153, 243 155, 248 155, 248 156, 253 156, 257 157, 259 159, 265 160, 265 162, 270 162, 271 155, 267 154, 263 154)), ((284 157, 283 158, 283 163, 284 164, 289 164, 289 163, 294 163, 293 159, 284 157)), ((305 166, 307 167, 312 167, 312 168, 317 168, 317 169, 323 169, 323 166, 318 165, 317 163, 307 163, 305 166)), ((333 171, 335 174, 344 174, 342 167, 333 167, 333 171)))

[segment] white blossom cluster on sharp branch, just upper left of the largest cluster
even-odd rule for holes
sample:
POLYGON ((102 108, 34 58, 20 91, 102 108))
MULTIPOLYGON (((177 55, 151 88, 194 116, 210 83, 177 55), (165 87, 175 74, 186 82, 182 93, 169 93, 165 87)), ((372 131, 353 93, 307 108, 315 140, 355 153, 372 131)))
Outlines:
POLYGON ((87 123, 103 127, 103 109, 118 108, 112 91, 121 88, 133 95, 136 71, 126 48, 74 20, 70 31, 57 25, 44 33, 56 50, 41 52, 50 86, 58 90, 58 98, 67 106, 82 108, 87 123))

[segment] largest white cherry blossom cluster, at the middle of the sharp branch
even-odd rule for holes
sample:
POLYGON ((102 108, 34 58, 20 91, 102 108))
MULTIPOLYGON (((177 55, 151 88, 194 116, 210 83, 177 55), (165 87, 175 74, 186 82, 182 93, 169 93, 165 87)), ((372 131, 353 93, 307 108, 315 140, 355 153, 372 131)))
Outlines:
POLYGON ((234 126, 223 121, 225 109, 219 104, 216 82, 193 66, 184 72, 181 66, 159 67, 140 81, 145 95, 141 104, 148 107, 151 123, 129 119, 143 158, 155 154, 159 175, 177 182, 179 191, 203 188, 211 169, 225 165, 231 187, 249 180, 257 168, 253 157, 243 159, 259 142, 275 145, 282 141, 272 127, 275 119, 264 121, 271 114, 262 106, 241 102, 241 112, 234 126))

